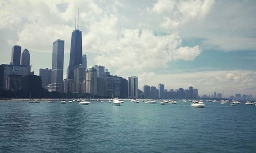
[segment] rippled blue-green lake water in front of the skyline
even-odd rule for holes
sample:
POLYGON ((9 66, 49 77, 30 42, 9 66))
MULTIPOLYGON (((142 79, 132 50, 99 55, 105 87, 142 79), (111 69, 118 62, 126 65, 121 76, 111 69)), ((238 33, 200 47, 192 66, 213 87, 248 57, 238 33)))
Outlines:
POLYGON ((256 106, 0 102, 0 152, 256 152, 256 106))

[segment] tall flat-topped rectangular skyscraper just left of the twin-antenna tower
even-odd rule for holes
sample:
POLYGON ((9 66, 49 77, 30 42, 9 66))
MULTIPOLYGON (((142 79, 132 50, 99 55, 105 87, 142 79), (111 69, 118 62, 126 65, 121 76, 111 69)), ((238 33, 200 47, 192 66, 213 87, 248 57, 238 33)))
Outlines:
POLYGON ((52 47, 51 91, 61 92, 63 83, 64 40, 57 39, 52 47))

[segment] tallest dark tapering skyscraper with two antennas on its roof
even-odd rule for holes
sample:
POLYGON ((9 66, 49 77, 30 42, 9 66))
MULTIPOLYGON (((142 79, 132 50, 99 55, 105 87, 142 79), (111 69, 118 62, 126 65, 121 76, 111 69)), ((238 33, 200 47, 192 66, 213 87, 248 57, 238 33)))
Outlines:
POLYGON ((77 29, 71 35, 70 59, 68 67, 68 79, 74 79, 74 67, 82 64, 82 32, 79 30, 79 11, 77 16, 77 29))

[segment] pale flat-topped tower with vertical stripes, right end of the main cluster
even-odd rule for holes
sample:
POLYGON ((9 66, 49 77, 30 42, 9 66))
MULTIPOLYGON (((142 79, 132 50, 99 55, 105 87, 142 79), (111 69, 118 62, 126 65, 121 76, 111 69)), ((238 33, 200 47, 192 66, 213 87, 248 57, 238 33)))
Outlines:
POLYGON ((128 98, 138 98, 138 77, 128 78, 128 98))

